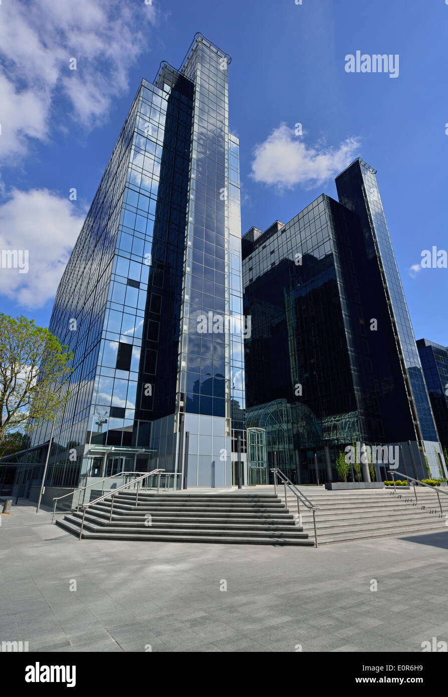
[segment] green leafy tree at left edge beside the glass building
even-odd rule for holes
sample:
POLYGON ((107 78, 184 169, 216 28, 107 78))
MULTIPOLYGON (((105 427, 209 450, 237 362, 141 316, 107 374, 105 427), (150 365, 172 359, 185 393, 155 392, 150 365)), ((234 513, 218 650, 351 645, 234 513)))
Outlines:
POLYGON ((54 418, 70 394, 59 384, 72 372, 71 352, 48 329, 23 315, 0 312, 0 442, 54 418))

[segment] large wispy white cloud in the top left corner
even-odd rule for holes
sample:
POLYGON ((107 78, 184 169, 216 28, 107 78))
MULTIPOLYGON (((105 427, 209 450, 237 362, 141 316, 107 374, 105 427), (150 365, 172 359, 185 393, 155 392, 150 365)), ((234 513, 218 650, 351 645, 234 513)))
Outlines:
POLYGON ((33 0, 1 6, 0 158, 24 155, 29 138, 45 140, 72 117, 93 128, 128 89, 128 71, 147 49, 155 7, 121 0, 33 0), (77 70, 69 69, 70 59, 77 70), (55 118, 55 98, 70 102, 55 118))

